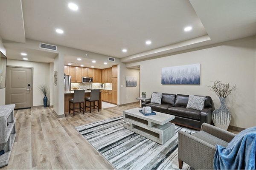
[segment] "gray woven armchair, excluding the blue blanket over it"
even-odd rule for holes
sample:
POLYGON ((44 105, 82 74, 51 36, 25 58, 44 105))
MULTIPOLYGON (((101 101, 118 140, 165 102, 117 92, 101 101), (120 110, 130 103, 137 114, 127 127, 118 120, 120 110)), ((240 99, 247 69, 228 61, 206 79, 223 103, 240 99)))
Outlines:
POLYGON ((186 162, 193 169, 213 169, 215 145, 227 147, 235 136, 207 123, 202 124, 201 131, 193 134, 179 131, 179 168, 182 169, 183 162, 186 162))

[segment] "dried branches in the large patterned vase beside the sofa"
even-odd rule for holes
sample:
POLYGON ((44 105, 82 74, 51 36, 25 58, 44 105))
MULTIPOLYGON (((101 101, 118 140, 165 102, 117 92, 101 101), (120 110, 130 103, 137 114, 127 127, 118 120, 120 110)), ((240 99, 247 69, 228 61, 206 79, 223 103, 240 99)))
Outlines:
POLYGON ((230 87, 230 84, 224 84, 221 81, 216 80, 212 86, 208 86, 211 88, 211 91, 214 91, 215 94, 217 94, 218 97, 224 97, 226 98, 230 93, 234 90, 236 90, 236 85, 233 87, 230 87))

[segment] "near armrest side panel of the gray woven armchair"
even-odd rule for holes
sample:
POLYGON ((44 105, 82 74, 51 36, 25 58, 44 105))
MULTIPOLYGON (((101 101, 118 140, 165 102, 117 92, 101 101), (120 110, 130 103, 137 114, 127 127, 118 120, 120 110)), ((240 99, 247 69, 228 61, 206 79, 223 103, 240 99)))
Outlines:
POLYGON ((213 169, 215 146, 186 132, 179 131, 178 158, 193 169, 213 169))

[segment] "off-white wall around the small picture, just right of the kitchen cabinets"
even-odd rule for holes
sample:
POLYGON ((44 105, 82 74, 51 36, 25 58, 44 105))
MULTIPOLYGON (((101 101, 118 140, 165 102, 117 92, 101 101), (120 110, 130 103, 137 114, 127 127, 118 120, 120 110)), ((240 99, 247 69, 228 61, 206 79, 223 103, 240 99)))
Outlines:
POLYGON ((120 68, 120 73, 118 75, 119 77, 118 105, 138 102, 136 98, 140 96, 140 70, 126 68, 125 64, 120 64, 119 68, 120 68), (137 77, 137 86, 126 87, 126 82, 125 82, 126 76, 137 77))

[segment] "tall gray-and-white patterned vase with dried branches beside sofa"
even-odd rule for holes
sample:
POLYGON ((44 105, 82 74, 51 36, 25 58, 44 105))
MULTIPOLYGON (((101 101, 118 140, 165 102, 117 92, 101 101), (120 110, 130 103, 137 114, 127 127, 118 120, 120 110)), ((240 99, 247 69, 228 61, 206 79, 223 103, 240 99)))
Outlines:
POLYGON ((227 130, 231 120, 231 113, 227 108, 226 98, 232 91, 236 90, 236 85, 230 87, 229 83, 215 81, 212 86, 208 87, 217 94, 221 103, 220 107, 212 112, 212 121, 216 127, 227 130))

